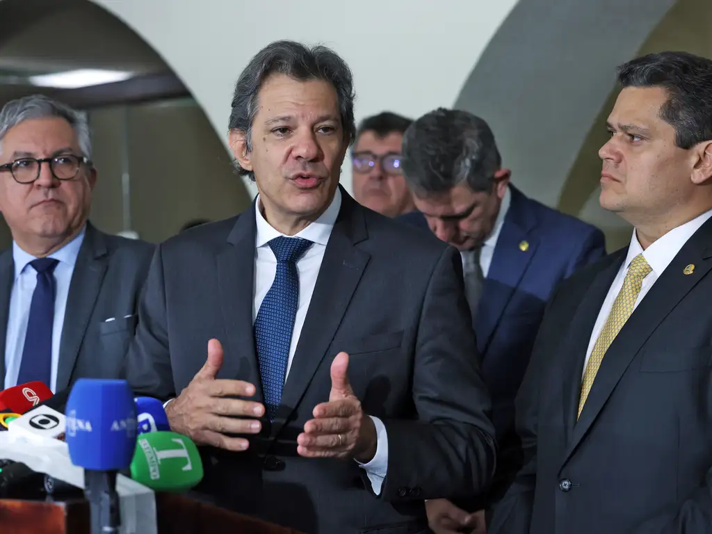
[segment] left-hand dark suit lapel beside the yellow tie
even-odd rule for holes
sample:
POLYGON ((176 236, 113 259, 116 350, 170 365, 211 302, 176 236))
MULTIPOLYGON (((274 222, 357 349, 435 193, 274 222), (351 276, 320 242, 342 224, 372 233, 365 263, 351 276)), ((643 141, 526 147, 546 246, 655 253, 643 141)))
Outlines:
POLYGON ((561 367, 562 415, 567 440, 572 435, 576 424, 578 404, 581 397, 581 377, 583 375, 583 363, 588 352, 588 340, 590 340, 598 314, 601 311, 604 300, 606 300, 608 290, 625 260, 627 251, 627 248, 623 248, 622 251, 610 256, 607 265, 597 273, 572 318, 572 323, 568 329, 569 335, 567 335, 566 341, 562 343, 561 353, 565 355, 561 367))

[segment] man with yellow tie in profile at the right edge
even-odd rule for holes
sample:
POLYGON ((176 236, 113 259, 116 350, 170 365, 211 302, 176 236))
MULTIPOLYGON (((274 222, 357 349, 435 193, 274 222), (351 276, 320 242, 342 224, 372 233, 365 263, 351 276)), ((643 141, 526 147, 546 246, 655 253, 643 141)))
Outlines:
POLYGON ((712 532, 712 61, 618 79, 600 204, 635 229, 549 305, 491 534, 712 532))

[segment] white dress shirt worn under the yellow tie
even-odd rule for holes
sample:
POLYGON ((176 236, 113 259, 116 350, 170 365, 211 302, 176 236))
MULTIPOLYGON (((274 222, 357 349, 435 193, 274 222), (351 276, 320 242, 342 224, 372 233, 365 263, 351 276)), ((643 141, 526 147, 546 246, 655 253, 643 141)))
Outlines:
POLYGON ((640 288, 640 293, 638 294, 638 298, 635 301, 633 307, 633 310, 635 310, 635 308, 638 307, 645 295, 647 295, 650 288, 653 287, 655 281, 660 277, 663 271, 665 271, 667 266, 670 265, 670 262, 673 261, 675 256, 677 256, 677 253, 679 253, 680 249, 684 246, 684 244, 687 243, 687 240, 690 239, 692 237, 692 234, 694 234, 700 226, 705 224, 707 219, 709 219, 711 216, 712 210, 706 211, 695 219, 692 219, 691 221, 672 229, 660 239, 654 241, 654 243, 652 243, 645 250, 643 250, 643 247, 640 246, 640 243, 638 241, 638 235, 636 231, 633 230, 633 237, 630 240, 628 255, 626 256, 625 261, 619 269, 616 278, 614 278, 613 283, 611 284, 611 288, 608 290, 606 300, 603 301, 601 310, 598 313, 598 318, 596 319, 596 324, 593 327, 591 339, 588 342, 586 360, 584 361, 583 365, 584 373, 586 372, 586 366, 588 365, 588 360, 591 357, 593 347, 594 345, 596 345, 598 336, 601 335, 601 330, 603 330, 603 325, 606 323, 608 315, 610 315, 611 313, 611 308, 613 308, 614 300, 616 300, 618 293, 620 293, 620 290, 623 287, 623 281, 625 280, 625 276, 628 273, 628 269, 630 268, 630 263, 633 261, 633 258, 635 258, 638 254, 642 253, 643 257, 645 258, 645 261, 648 262, 648 265, 651 268, 651 271, 648 276, 643 278, 643 284, 640 288))

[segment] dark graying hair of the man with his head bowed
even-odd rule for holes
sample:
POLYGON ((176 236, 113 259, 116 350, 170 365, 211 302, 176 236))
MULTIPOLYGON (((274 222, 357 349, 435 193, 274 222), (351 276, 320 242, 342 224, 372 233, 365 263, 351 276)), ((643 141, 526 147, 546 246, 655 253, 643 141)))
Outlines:
POLYGON ((408 127, 401 163, 415 194, 443 193, 463 183, 489 193, 502 159, 484 120, 466 111, 438 108, 408 127))

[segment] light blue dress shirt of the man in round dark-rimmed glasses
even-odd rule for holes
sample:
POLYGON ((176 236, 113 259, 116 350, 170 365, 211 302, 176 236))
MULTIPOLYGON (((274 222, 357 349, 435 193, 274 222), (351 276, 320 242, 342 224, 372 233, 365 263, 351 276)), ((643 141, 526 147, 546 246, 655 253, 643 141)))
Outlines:
MULTIPOLYGON (((69 284, 72 281, 74 266, 79 249, 84 241, 86 228, 68 244, 48 257, 58 260, 54 269, 55 298, 54 323, 52 325, 52 375, 51 383, 46 384, 56 392, 57 368, 59 367, 59 344, 62 340, 64 313, 67 308, 69 284)), ((15 262, 15 277, 10 295, 10 308, 5 338, 5 389, 17 385, 20 373, 22 351, 25 347, 27 323, 30 318, 32 294, 37 285, 37 272, 29 263, 37 258, 23 251, 18 244, 12 244, 12 257, 15 262)))

